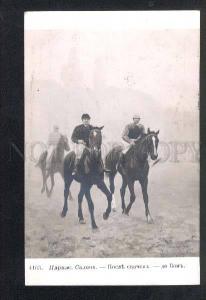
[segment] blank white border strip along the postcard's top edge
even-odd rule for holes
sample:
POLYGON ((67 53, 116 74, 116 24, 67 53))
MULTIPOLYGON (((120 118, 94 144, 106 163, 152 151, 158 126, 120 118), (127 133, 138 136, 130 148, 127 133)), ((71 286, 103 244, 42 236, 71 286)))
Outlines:
POLYGON ((25 30, 199 29, 199 11, 25 12, 25 30))

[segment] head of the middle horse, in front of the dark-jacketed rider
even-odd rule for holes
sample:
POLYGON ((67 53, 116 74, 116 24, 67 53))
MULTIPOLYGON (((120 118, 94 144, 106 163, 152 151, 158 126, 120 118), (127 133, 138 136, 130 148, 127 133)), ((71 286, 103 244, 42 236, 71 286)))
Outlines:
POLYGON ((91 154, 94 155, 96 159, 101 156, 101 145, 102 145, 102 127, 93 127, 89 134, 89 148, 91 154))

